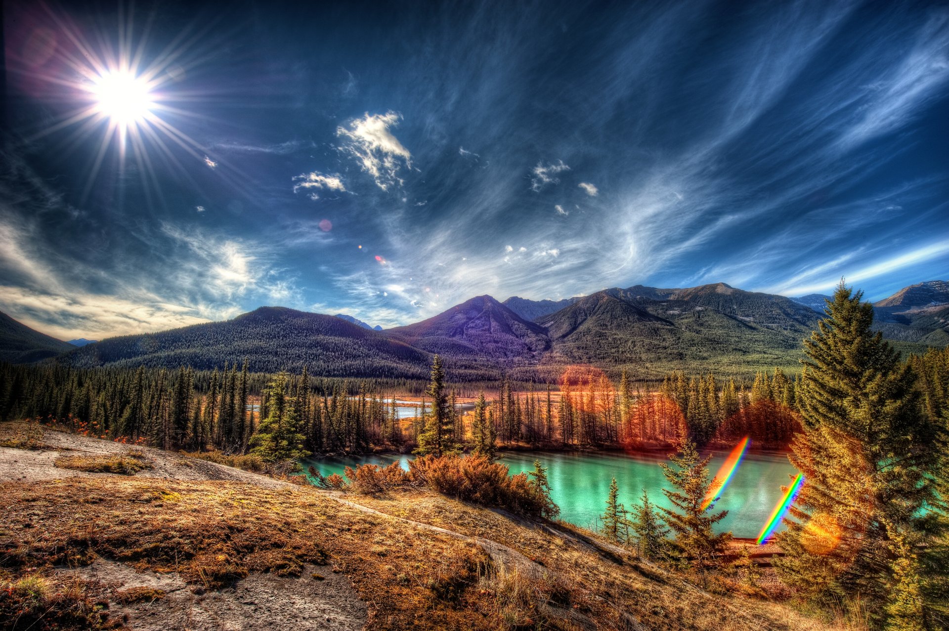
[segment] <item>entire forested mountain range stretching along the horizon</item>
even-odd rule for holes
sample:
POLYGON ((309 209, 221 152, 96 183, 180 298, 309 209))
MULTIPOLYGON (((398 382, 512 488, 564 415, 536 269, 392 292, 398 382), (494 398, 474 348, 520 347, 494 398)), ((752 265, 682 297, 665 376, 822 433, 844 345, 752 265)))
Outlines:
MULTIPOLYGON (((220 367, 346 378, 424 379, 434 353, 453 380, 551 380, 571 365, 639 379, 669 370, 747 375, 796 368, 801 341, 823 317, 824 296, 786 298, 724 283, 696 288, 609 288, 562 301, 477 296, 433 318, 380 330, 351 316, 265 306, 233 320, 128 335, 80 348, 4 316, 0 358, 58 356, 76 366, 220 367), (10 331, 7 333, 7 331, 10 331)), ((949 343, 949 284, 904 288, 874 306, 877 327, 903 352, 949 343), (940 302, 941 301, 941 302, 940 302)))

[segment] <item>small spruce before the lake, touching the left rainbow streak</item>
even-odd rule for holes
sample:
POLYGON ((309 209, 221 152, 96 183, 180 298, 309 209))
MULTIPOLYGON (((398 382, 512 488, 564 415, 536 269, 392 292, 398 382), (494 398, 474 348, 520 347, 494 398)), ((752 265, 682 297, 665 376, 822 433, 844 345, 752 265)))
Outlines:
POLYGON ((694 562, 700 571, 715 561, 732 538, 731 532, 716 534, 713 531, 728 510, 712 512, 715 502, 702 507, 711 484, 708 470, 711 459, 711 455, 699 457, 695 443, 685 441, 678 454, 669 455, 671 466, 661 464, 662 474, 673 487, 662 492, 674 507, 672 510, 660 508, 662 520, 676 534, 673 546, 679 557, 694 562))

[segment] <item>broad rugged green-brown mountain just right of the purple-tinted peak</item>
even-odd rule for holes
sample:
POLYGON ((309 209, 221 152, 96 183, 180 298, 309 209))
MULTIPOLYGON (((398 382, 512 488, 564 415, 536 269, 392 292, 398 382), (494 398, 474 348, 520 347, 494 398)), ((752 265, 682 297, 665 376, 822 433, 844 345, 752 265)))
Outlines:
POLYGON ((747 373, 796 368, 800 343, 819 315, 788 298, 724 284, 688 289, 606 289, 538 322, 559 363, 628 366, 661 378, 689 366, 747 373))

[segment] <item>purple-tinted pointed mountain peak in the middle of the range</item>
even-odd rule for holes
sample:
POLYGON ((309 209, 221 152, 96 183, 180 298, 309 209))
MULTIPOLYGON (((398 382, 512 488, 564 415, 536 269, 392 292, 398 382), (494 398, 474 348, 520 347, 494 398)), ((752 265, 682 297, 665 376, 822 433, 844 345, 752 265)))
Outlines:
POLYGON ((542 326, 524 320, 491 296, 477 296, 414 325, 385 331, 394 340, 452 358, 533 363, 550 347, 542 326))

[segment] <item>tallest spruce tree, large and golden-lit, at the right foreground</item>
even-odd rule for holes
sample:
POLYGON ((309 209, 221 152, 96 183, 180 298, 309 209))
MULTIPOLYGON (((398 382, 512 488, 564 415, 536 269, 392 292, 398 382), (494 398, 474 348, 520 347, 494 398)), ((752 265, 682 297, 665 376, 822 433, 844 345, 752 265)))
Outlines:
POLYGON ((805 482, 776 539, 788 552, 779 568, 816 599, 859 594, 877 626, 925 628, 936 603, 910 606, 906 594, 933 534, 941 436, 862 298, 842 281, 805 341, 795 393, 805 429, 789 456, 805 482))

